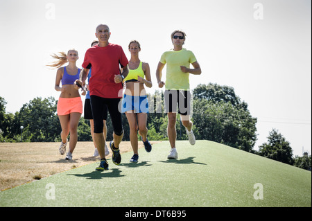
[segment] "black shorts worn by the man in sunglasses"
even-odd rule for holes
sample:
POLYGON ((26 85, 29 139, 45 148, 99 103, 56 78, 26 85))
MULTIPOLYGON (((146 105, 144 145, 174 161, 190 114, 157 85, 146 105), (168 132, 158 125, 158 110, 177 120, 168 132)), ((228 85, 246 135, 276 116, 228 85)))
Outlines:
POLYGON ((164 91, 165 112, 177 112, 181 115, 191 114, 191 92, 184 90, 165 90, 164 91))

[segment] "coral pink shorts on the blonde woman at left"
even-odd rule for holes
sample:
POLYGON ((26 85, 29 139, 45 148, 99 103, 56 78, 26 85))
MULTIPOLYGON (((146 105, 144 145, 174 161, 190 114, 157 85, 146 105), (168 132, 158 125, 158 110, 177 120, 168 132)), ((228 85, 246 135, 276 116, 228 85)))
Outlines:
POLYGON ((80 97, 58 99, 58 115, 67 115, 70 113, 83 114, 83 101, 80 97))

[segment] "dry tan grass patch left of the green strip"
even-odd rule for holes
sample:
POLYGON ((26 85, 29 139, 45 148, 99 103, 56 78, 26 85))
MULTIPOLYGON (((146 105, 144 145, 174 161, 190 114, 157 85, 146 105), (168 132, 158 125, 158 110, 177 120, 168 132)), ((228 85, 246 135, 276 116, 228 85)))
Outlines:
MULTIPOLYGON (((99 161, 99 157, 92 157, 93 142, 78 142, 71 161, 65 160, 66 154, 60 155, 59 145, 60 143, 0 143, 0 191, 99 161)), ((143 143, 139 142, 139 148, 143 147, 143 143)), ((69 145, 67 150, 68 148, 69 145)), ((121 153, 132 151, 130 141, 121 142, 120 150, 121 153)), ((112 154, 107 158, 110 157, 112 154)))

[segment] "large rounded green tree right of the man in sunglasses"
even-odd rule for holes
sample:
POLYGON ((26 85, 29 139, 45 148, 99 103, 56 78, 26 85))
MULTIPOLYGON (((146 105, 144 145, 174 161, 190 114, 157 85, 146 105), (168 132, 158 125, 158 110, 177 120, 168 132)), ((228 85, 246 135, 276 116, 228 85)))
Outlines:
POLYGON ((253 152, 257 141, 257 118, 248 111, 234 89, 219 85, 198 85, 193 90, 193 123, 196 139, 207 139, 253 152))

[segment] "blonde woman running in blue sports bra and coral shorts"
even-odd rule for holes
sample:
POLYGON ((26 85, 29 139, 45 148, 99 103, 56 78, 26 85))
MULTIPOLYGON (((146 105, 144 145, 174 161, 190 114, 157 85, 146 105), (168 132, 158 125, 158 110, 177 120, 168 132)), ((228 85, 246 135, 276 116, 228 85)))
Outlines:
POLYGON ((60 134, 62 143, 60 145, 60 154, 66 152, 67 136, 71 134, 69 139, 69 151, 67 152, 67 160, 73 158, 73 150, 76 148, 78 141, 77 127, 81 114, 83 113, 83 102, 80 98, 78 89, 73 87, 73 82, 79 78, 80 69, 76 67, 78 60, 78 51, 71 49, 68 53, 61 52, 60 55, 52 55, 57 61, 49 65, 58 68, 55 79, 55 90, 60 91, 58 100, 58 118, 62 127, 60 134), (69 63, 66 67, 64 64, 69 63), (62 86, 60 83, 62 82, 62 86))

